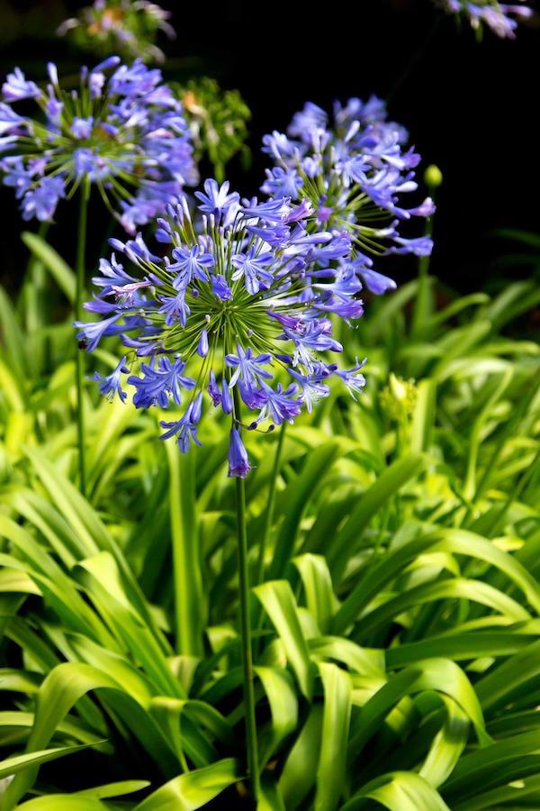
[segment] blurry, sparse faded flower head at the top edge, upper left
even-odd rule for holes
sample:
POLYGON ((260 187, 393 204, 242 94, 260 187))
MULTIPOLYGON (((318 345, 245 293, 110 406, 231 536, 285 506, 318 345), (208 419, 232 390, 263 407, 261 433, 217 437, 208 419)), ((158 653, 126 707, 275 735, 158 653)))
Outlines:
POLYGON ((163 62, 165 55, 157 48, 156 38, 161 31, 175 39, 175 30, 168 23, 171 16, 148 0, 95 0, 62 23, 58 34, 67 34, 78 47, 94 53, 163 62))

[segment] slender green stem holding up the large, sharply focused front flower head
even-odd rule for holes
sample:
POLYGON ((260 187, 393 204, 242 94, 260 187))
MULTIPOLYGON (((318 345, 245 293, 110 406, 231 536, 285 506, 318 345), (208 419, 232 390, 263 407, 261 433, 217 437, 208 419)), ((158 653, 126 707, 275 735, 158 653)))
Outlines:
MULTIPOLYGON (((238 387, 233 390, 234 417, 239 422, 240 399, 238 387)), ((233 423, 234 424, 234 423, 233 423)), ((240 592, 240 632, 242 642, 242 668, 244 671, 244 701, 246 704, 246 749, 247 776, 253 799, 260 796, 260 775, 257 751, 257 719, 255 715, 255 690, 253 687, 253 658, 251 651, 251 621, 249 616, 249 570, 247 563, 246 484, 243 478, 236 479, 237 527, 238 527, 238 582, 240 592)))

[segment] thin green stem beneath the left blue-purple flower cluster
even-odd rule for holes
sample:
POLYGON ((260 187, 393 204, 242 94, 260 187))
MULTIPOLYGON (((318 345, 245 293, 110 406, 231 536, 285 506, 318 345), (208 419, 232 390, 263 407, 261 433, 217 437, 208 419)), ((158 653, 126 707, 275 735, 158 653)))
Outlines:
MULTIPOLYGON (((80 321, 83 315, 83 294, 85 290, 86 223, 88 215, 89 187, 84 183, 80 190, 79 216, 76 243, 76 288, 75 317, 80 321)), ((85 410, 83 395, 85 390, 85 353, 76 348, 76 437, 78 446, 79 488, 86 495, 85 460, 85 410)))

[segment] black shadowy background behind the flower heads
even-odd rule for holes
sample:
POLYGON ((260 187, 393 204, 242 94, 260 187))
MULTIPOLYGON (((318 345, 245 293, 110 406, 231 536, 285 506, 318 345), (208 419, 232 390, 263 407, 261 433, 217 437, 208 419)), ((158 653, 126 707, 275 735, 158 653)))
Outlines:
MULTIPOLYGON (((91 63, 91 56, 55 36, 81 5, 0 0, 0 73, 20 65, 39 79, 49 59, 62 71, 91 63)), ((502 263, 503 254, 527 249, 498 231, 538 233, 537 20, 520 25, 516 41, 485 32, 478 42, 468 25, 460 28, 430 0, 160 5, 173 11, 178 34, 175 42, 159 42, 169 57, 166 77, 216 77, 223 87, 238 87, 252 111, 252 167, 248 176, 239 164, 229 170, 241 193, 256 193, 262 182, 262 135, 283 131, 306 100, 328 107, 336 98, 375 93, 389 100, 392 119, 409 128, 422 165, 435 162, 444 173, 432 263, 437 276, 465 291, 500 287, 509 276, 531 272, 527 263, 502 263)), ((25 259, 17 240, 23 223, 11 189, 1 189, 0 204, 0 276, 14 287, 25 259)), ((73 206, 60 204, 49 232, 67 260, 75 252, 75 214, 73 206)), ((102 218, 96 206, 95 259, 102 218)), ((414 260, 395 267, 401 280, 415 272, 414 260)))

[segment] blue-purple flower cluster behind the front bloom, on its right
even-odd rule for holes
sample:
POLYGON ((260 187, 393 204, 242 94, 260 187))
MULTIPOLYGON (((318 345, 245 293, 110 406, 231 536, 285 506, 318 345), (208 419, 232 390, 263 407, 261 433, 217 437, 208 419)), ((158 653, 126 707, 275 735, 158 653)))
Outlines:
POLYGON ((401 226, 411 217, 428 217, 430 198, 406 207, 403 197, 416 192, 419 154, 407 148, 407 132, 386 119, 386 108, 372 96, 336 104, 332 123, 319 106, 308 103, 293 116, 287 133, 263 139, 275 161, 266 170, 262 190, 275 199, 309 201, 316 223, 347 234, 351 256, 414 253, 428 255, 428 237, 405 237, 401 226))

